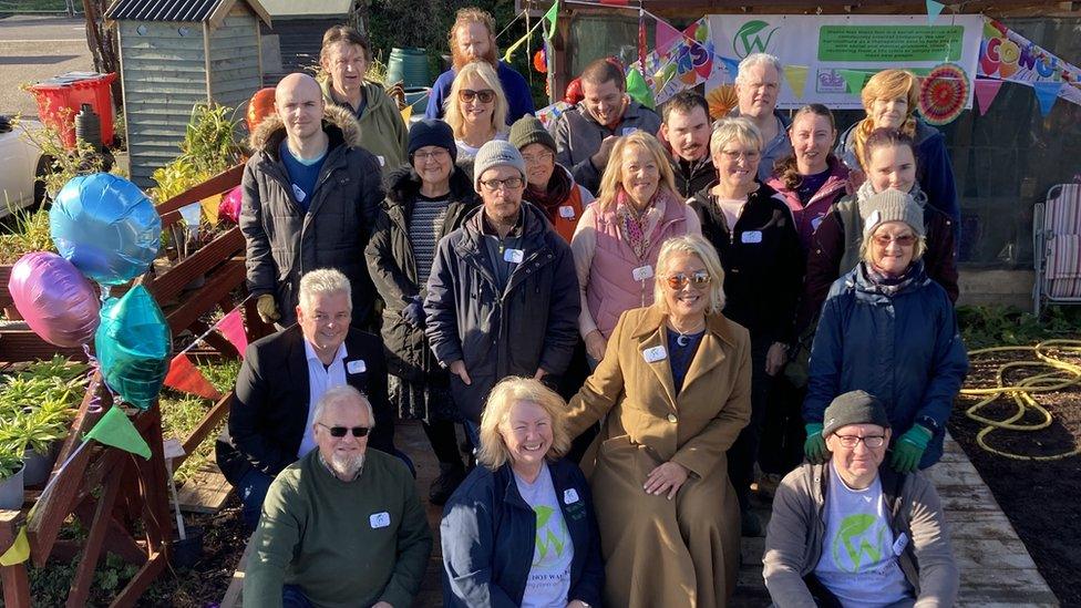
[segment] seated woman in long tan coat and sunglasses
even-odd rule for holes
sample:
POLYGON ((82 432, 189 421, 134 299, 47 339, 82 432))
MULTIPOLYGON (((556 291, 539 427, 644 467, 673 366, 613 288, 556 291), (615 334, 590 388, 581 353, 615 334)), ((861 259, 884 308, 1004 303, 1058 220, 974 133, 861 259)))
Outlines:
POLYGON ((750 420, 750 338, 721 315, 713 246, 675 237, 655 303, 625 312, 570 402, 577 435, 605 414, 590 474, 607 606, 713 608, 735 588, 740 512, 725 451, 750 420))

